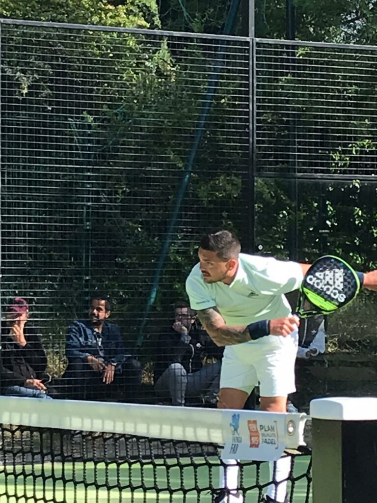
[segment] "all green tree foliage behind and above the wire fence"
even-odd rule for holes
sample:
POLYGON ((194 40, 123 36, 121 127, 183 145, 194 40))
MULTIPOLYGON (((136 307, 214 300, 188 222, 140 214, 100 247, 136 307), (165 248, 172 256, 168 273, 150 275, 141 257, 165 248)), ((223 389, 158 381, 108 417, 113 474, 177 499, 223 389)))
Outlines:
MULTIPOLYGON (((225 0, 161 2, 162 26, 219 33, 229 4, 225 0)), ((334 2, 323 19, 318 9, 322 3, 313 4, 296 2, 299 38, 357 41, 350 34, 344 38, 343 29, 352 25, 346 21, 353 19, 353 0, 334 2), (342 16, 341 4, 349 8, 342 16)), ((369 5, 372 16, 373 3, 369 5)), ((12 18, 159 27, 152 0, 46 4, 0 0, 0 7, 3 16, 12 18)), ((284 37, 285 1, 258 0, 256 19, 258 36, 284 37)), ((366 37, 367 30, 372 33, 366 25, 361 23, 362 31, 358 21, 353 23, 358 30, 353 37, 361 33, 366 37)), ((236 26, 235 33, 239 29, 236 26)), ((339 110, 364 107, 367 114, 368 103, 375 105, 370 62, 364 64, 361 58, 349 70, 351 56, 346 52, 336 55, 332 63, 331 51, 319 55, 309 46, 273 48, 281 56, 279 64, 284 64, 271 72, 275 56, 265 52, 257 65, 258 90, 264 94, 257 102, 259 144, 254 167, 261 176, 255 187, 256 244, 262 253, 289 257, 296 233, 300 260, 331 252, 368 269, 376 251, 375 189, 358 182, 357 175, 365 175, 369 159, 376 154, 375 125, 354 117, 339 119, 337 124, 326 122, 319 113, 319 100, 335 96, 339 110), (338 68, 335 77, 332 64, 338 68), (319 85, 313 85, 318 68, 324 68, 320 91, 319 85), (355 85, 348 77, 361 69, 367 77, 355 85), (269 80, 261 86, 265 75, 269 80), (278 105, 273 101, 276 97, 278 105), (286 103, 289 107, 284 111, 286 103), (320 118, 326 144, 321 150, 326 155, 323 165, 334 180, 350 173, 347 182, 300 182, 298 190, 292 186, 293 116, 303 125, 304 141, 319 137, 320 118), (317 129, 311 129, 311 124, 317 129), (344 131, 341 137, 339 129, 344 131), (279 148, 273 152, 276 145, 279 148), (269 169, 285 179, 263 178, 266 159, 269 169)), ((29 196, 21 210, 25 219, 30 214, 36 221, 49 219, 48 232, 40 230, 36 244, 27 249, 23 245, 30 231, 20 229, 16 239, 11 235, 12 219, 10 224, 5 222, 5 232, 13 239, 10 253, 13 249, 19 254, 23 264, 22 277, 17 278, 13 264, 5 276, 17 278, 14 285, 8 284, 10 294, 22 285, 24 292, 38 291, 50 299, 51 319, 57 323, 48 328, 52 333, 66 324, 67 306, 73 304, 79 314, 87 293, 99 288, 112 295, 128 337, 135 337, 214 74, 218 82, 178 212, 156 308, 166 312, 172 301, 184 295, 184 279, 196 262, 195 247, 203 230, 228 227, 247 244, 253 217, 253 187, 248 185, 247 51, 247 43, 226 48, 213 41, 206 45, 199 38, 3 27, 2 78, 7 90, 2 109, 6 131, 2 141, 7 145, 3 162, 16 173, 20 165, 26 166, 12 187, 29 196), (46 180, 51 184, 43 188, 42 197, 40 186, 46 180)), ((306 152, 307 175, 310 170, 315 173, 319 151, 306 152)), ((7 197, 13 208, 13 193, 7 197)))

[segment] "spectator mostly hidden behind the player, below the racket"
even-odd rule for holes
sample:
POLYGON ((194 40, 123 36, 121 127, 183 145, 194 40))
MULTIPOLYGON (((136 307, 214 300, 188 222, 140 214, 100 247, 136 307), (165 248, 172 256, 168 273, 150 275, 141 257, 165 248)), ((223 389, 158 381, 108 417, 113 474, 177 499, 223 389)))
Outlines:
POLYGON ((297 407, 310 401, 307 396, 301 397, 301 395, 307 394, 309 388, 304 381, 313 381, 311 374, 309 376, 305 375, 306 373, 304 369, 307 365, 306 361, 324 353, 325 349, 325 317, 322 314, 318 314, 316 316, 311 316, 310 318, 302 319, 299 327, 299 347, 297 350, 296 360, 297 391, 288 397, 288 412, 297 412, 297 407), (306 379, 307 377, 308 379, 306 379))

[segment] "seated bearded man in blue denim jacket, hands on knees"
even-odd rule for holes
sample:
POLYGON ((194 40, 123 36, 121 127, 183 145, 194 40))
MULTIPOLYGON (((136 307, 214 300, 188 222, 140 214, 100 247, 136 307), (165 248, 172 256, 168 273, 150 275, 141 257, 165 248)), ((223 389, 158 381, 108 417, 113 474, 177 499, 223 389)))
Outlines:
POLYGON ((126 355, 120 330, 109 323, 107 296, 91 299, 88 320, 71 323, 66 335, 68 367, 63 378, 76 399, 121 399, 137 395, 141 364, 126 355))

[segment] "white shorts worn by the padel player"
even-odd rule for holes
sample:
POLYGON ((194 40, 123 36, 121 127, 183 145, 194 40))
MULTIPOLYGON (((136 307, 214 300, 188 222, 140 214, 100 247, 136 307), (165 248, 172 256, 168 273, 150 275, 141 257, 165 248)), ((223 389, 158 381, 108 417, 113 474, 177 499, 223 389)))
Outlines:
POLYGON ((298 332, 266 336, 227 346, 221 365, 220 388, 251 393, 259 384, 260 396, 287 396, 296 391, 295 360, 298 332))

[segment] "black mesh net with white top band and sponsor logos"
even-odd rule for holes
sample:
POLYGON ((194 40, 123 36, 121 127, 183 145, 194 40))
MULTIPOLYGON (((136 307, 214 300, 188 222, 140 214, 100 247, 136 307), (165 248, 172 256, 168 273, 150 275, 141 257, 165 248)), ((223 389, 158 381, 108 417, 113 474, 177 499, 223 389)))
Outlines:
POLYGON ((258 454, 259 438, 267 449, 273 439, 286 448, 287 501, 309 503, 311 456, 295 449, 303 414, 272 414, 282 427, 267 414, 276 426, 268 436, 263 412, 0 397, 0 502, 212 503, 221 469, 236 466, 237 490, 257 503, 276 484, 271 463, 242 460, 252 441, 254 458, 270 456, 258 454), (221 458, 223 446, 232 452, 243 440, 241 461, 221 458))

